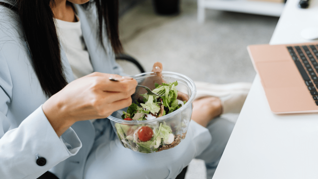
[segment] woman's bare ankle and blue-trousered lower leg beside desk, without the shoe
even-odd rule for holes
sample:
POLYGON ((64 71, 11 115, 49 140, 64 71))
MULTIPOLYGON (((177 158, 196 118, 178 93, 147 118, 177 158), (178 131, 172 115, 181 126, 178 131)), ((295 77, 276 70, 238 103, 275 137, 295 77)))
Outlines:
POLYGON ((222 112, 223 107, 218 97, 202 97, 193 102, 191 119, 208 128, 212 137, 209 146, 196 156, 205 161, 208 179, 214 175, 234 127, 233 122, 220 117, 222 112))

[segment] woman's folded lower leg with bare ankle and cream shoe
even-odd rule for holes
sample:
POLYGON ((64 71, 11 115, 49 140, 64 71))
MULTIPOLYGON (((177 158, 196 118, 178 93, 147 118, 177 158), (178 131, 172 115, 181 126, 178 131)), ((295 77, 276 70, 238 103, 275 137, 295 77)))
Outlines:
POLYGON ((193 102, 192 119, 206 126, 212 141, 196 158, 205 161, 207 178, 213 177, 225 146, 234 128, 234 122, 221 114, 239 113, 251 83, 211 84, 196 82, 197 99, 193 102))

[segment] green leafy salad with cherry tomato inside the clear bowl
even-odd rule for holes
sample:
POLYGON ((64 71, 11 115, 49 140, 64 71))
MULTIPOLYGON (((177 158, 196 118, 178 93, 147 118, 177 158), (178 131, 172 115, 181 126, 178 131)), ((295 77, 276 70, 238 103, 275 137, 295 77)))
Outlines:
MULTIPOLYGON (((131 104, 123 111, 123 120, 149 120, 146 125, 129 125, 116 123, 117 135, 123 146, 141 153, 151 153, 166 150, 178 145, 184 139, 185 133, 176 134, 179 129, 174 123, 151 122, 151 120, 167 115, 179 109, 186 101, 177 99, 178 82, 155 84, 154 93, 164 92, 165 96, 140 94, 143 102, 131 104)), ((180 130, 179 130, 180 131, 180 130)))

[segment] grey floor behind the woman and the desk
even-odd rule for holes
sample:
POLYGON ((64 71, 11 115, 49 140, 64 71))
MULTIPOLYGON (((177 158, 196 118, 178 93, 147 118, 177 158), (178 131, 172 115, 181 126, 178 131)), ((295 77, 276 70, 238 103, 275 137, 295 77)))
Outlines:
MULTIPOLYGON (((182 0, 176 16, 158 16, 151 0, 135 5, 120 18, 120 38, 125 53, 138 59, 146 71, 156 61, 163 71, 184 74, 211 83, 252 82, 256 72, 246 47, 269 43, 276 17, 216 10, 206 11, 197 23, 196 0, 182 0)), ((133 66, 121 64, 135 75, 133 66)), ((235 120, 237 115, 230 116, 235 120)), ((204 161, 192 160, 186 179, 206 179, 204 161)))

